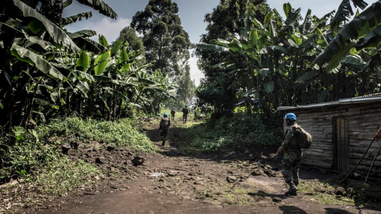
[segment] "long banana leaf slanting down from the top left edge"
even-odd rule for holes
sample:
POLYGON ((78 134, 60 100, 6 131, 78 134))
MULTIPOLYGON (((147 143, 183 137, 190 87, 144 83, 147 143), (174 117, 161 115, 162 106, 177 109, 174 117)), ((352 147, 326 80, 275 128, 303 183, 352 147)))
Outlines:
MULTIPOLYGON (((57 25, 43 16, 41 13, 37 12, 34 8, 25 4, 20 0, 12 0, 13 4, 17 6, 25 17, 32 17, 37 19, 43 26, 45 26, 44 30, 46 30, 49 35, 52 37, 53 41, 57 44, 63 45, 64 47, 71 49, 74 52, 79 52, 80 49, 75 45, 75 43, 70 39, 70 37, 57 25)), ((33 22, 31 22, 33 23, 33 22)), ((40 28, 36 24, 29 24, 29 28, 40 28)))

